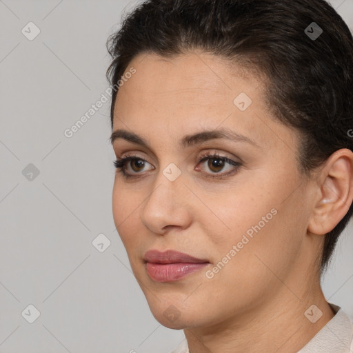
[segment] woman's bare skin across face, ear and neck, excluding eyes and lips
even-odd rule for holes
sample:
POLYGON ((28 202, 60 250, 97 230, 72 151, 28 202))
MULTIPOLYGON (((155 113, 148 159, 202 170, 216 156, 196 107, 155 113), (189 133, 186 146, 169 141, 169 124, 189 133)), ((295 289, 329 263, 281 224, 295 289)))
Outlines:
POLYGON ((191 353, 297 352, 334 316, 317 258, 323 234, 352 203, 352 152, 335 152, 305 179, 296 163, 299 136, 274 119, 259 75, 201 51, 172 59, 140 54, 130 67, 137 72, 119 89, 113 131, 139 134, 150 148, 113 142, 118 159, 137 154, 146 162, 139 169, 127 163, 135 178, 116 174, 112 206, 152 314, 166 327, 184 329, 191 353), (241 92, 252 99, 243 112, 233 103, 241 92), (186 134, 221 127, 259 147, 227 139, 179 145, 186 134), (202 152, 242 165, 212 179, 234 166, 212 169, 208 161, 199 163, 202 152), (181 170, 175 181, 163 174, 170 163, 181 170), (272 209, 276 215, 208 279, 205 272, 272 209), (210 264, 179 281, 157 283, 143 261, 151 249, 210 264), (304 315, 313 304, 323 312, 316 323, 304 315))

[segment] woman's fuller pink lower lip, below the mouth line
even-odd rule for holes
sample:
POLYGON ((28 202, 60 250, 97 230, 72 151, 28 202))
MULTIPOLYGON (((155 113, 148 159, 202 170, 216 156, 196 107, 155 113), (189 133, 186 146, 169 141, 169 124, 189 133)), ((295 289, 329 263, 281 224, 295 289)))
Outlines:
POLYGON ((210 263, 146 263, 146 270, 156 282, 178 281, 186 275, 196 272, 210 263))

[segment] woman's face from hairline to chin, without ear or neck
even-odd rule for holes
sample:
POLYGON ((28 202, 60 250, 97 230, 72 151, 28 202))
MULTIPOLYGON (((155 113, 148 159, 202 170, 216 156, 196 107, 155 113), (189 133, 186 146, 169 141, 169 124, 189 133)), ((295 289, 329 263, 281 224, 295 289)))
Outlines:
POLYGON ((141 54, 130 68, 113 131, 146 145, 115 136, 117 159, 135 159, 125 163, 130 178, 116 174, 113 214, 155 318, 199 327, 297 300, 314 261, 305 243, 310 190, 296 134, 272 117, 260 79, 203 52, 141 54), (146 263, 149 250, 166 253, 146 263))

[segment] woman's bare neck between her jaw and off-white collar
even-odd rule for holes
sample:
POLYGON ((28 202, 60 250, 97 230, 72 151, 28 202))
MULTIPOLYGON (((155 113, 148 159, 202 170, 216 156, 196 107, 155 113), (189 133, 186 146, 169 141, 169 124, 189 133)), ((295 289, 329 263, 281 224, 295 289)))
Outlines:
POLYGON ((217 325, 185 328, 190 353, 296 353, 334 317, 320 285, 312 293, 300 300, 283 286, 261 307, 217 325))

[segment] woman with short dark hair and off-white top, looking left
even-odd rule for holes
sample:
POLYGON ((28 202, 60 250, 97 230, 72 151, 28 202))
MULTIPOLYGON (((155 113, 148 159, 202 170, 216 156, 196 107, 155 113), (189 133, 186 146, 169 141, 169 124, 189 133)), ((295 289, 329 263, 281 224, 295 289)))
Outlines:
POLYGON ((114 223, 174 352, 353 352, 353 39, 323 0, 149 0, 108 41, 114 223))

